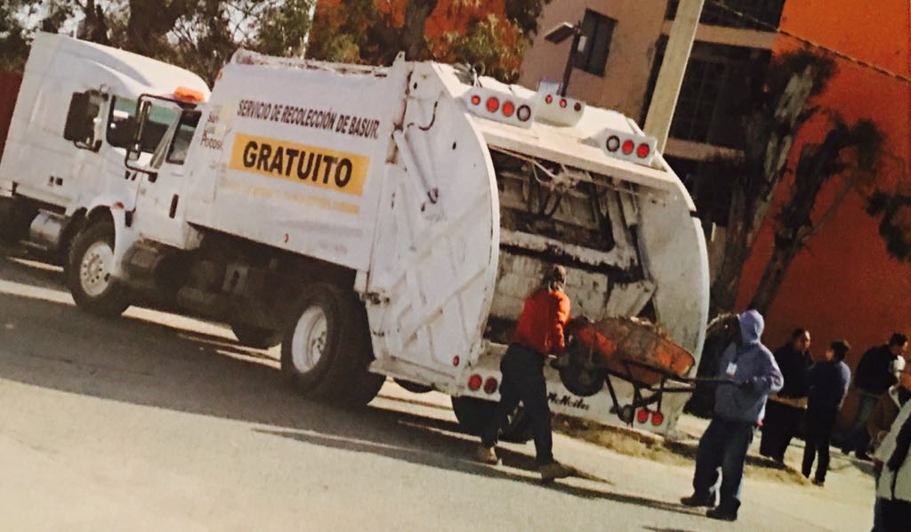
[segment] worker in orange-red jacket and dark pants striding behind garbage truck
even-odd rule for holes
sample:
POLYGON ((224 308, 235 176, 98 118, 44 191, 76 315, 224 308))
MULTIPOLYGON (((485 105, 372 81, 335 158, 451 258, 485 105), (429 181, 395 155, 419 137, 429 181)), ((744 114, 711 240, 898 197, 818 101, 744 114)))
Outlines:
POLYGON ((548 354, 562 353, 566 348, 563 330, 569 320, 570 304, 563 292, 566 280, 566 269, 553 266, 545 274, 541 286, 525 300, 513 342, 500 361, 503 375, 500 403, 496 414, 482 431, 481 445, 477 449, 479 461, 498 463, 495 447, 500 427, 521 401, 531 421, 538 471, 545 482, 571 474, 568 468, 554 461, 548 389, 544 379, 544 363, 548 354))

